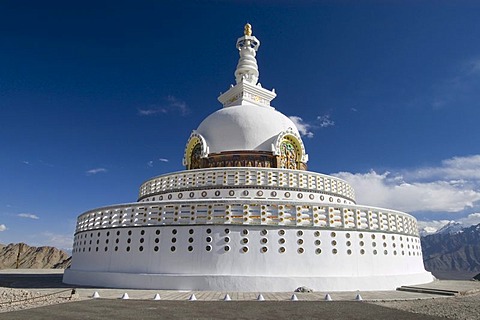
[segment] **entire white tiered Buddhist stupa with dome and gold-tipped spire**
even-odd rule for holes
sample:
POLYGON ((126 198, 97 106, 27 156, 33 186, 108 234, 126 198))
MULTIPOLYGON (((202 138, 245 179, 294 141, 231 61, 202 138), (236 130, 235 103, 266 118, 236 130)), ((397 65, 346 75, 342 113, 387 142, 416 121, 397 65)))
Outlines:
POLYGON ((78 217, 65 283, 331 292, 433 280, 414 217, 357 205, 347 182, 307 171, 295 124, 258 83, 259 46, 247 24, 236 85, 190 135, 186 170, 146 181, 138 202, 78 217))

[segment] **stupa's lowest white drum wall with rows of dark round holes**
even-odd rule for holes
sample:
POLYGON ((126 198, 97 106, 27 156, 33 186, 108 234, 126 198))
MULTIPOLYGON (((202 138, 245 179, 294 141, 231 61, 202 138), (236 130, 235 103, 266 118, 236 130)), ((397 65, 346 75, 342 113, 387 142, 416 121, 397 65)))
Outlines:
POLYGON ((433 280, 419 238, 262 225, 110 228, 76 235, 64 282, 118 288, 394 290, 433 280))

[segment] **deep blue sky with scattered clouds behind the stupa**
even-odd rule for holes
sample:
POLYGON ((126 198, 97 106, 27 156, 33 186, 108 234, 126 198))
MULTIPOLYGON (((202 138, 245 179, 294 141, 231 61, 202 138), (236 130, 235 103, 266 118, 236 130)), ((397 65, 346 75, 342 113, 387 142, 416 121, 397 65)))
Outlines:
POLYGON ((246 22, 310 170, 422 227, 480 222, 479 16, 474 1, 3 1, 0 243, 71 247, 77 215, 181 170, 246 22))

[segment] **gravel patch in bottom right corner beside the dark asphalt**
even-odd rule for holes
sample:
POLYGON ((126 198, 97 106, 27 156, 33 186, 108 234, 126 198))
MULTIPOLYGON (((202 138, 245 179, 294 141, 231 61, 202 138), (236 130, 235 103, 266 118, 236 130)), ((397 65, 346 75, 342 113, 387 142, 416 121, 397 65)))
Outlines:
POLYGON ((480 292, 466 296, 410 301, 379 301, 374 304, 447 319, 480 319, 480 292))

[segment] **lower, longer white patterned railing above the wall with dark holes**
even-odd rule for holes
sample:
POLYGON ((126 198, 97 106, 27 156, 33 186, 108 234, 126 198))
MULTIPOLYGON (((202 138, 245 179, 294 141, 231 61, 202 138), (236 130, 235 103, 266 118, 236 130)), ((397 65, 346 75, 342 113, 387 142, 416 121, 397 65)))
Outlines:
POLYGON ((418 235, 409 214, 357 205, 187 200, 98 208, 77 219, 76 232, 154 225, 236 224, 375 230, 418 235))

